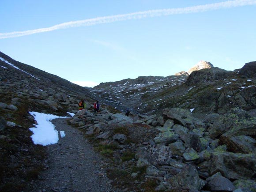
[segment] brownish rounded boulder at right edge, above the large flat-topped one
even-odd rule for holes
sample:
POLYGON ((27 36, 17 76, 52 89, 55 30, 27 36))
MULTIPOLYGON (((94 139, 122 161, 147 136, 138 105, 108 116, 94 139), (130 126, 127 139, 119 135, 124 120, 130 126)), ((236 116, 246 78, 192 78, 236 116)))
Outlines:
POLYGON ((220 145, 226 145, 228 151, 233 153, 253 153, 256 151, 256 140, 249 136, 222 135, 220 145))

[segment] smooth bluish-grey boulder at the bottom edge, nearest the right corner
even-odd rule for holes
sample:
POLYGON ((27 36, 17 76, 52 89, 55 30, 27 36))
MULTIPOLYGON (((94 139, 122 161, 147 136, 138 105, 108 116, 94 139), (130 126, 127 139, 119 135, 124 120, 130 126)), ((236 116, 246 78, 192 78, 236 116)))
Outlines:
POLYGON ((215 173, 213 176, 207 178, 206 188, 215 192, 233 192, 236 187, 233 183, 225 177, 222 177, 221 173, 215 173))

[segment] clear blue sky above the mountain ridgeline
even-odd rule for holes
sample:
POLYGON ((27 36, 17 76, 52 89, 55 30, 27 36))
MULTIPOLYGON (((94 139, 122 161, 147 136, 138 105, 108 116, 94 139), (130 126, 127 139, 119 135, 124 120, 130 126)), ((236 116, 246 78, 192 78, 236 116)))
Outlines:
POLYGON ((1 0, 0 51, 87 87, 233 71, 256 60, 256 0, 1 0))

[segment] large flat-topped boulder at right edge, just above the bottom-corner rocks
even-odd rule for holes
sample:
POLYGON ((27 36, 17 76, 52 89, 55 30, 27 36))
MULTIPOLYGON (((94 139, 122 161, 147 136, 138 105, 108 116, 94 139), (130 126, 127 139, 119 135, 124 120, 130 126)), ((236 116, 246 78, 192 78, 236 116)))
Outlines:
POLYGON ((208 169, 211 175, 220 172, 228 179, 250 179, 256 174, 256 154, 212 152, 208 169))

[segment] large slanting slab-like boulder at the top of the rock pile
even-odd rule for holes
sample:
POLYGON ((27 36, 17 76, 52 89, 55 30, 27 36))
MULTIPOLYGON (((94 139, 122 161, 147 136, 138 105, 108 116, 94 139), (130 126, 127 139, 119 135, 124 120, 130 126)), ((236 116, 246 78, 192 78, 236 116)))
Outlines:
POLYGON ((180 124, 191 130, 194 128, 205 128, 202 120, 192 117, 191 112, 181 108, 166 108, 163 110, 163 117, 165 120, 171 119, 175 124, 180 124))

